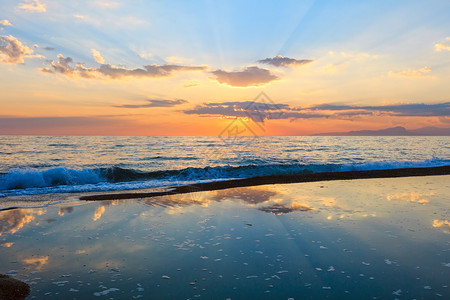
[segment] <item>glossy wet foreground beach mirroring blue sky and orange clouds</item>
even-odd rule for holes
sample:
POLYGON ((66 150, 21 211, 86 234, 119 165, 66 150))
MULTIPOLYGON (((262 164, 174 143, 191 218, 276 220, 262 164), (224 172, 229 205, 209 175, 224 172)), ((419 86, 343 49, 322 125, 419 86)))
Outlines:
POLYGON ((449 179, 276 183, 0 211, 0 273, 28 283, 30 299, 445 299, 449 179))

